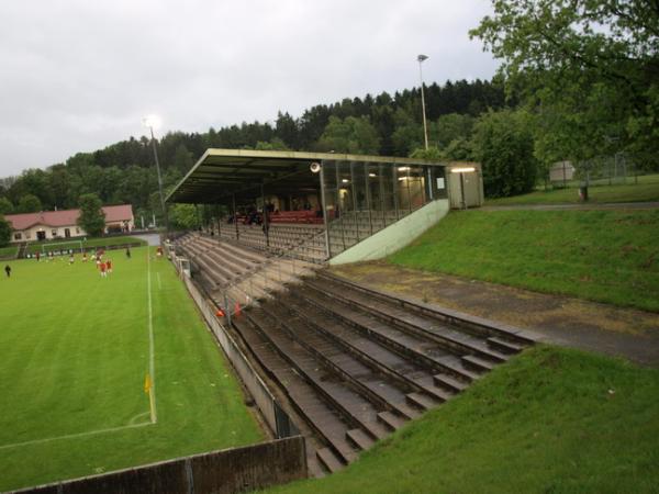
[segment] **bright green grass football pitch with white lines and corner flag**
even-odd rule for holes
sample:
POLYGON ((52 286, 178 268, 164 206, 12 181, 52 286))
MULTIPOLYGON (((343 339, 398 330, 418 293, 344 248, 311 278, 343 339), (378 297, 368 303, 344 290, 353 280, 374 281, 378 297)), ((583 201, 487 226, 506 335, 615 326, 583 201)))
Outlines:
POLYGON ((78 255, 2 270, 0 491, 264 438, 172 266, 148 252, 109 252, 105 279, 78 255))

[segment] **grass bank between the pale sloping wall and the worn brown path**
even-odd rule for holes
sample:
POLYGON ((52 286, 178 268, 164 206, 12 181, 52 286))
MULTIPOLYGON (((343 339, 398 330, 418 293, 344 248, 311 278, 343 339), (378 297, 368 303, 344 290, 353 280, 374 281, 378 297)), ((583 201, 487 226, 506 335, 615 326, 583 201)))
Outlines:
POLYGON ((390 262, 659 312, 659 211, 454 212, 390 262))

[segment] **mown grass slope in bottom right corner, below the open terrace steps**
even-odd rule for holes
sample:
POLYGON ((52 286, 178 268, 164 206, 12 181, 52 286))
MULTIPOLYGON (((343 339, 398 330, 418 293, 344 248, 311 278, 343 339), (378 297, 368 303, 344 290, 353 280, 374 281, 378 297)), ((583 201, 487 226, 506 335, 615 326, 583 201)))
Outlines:
POLYGON ((345 471, 269 492, 657 492, 657 409, 659 370, 537 347, 345 471))

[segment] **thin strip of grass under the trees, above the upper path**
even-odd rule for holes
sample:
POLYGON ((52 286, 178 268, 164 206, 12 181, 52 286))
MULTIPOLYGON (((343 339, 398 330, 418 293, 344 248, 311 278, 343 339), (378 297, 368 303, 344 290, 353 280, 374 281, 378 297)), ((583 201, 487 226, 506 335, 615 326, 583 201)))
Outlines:
MULTIPOLYGON (((608 186, 605 182, 589 188, 589 203, 659 201, 659 175, 627 179, 628 183, 608 186)), ((579 189, 538 190, 512 198, 488 199, 485 205, 579 203, 579 189)))

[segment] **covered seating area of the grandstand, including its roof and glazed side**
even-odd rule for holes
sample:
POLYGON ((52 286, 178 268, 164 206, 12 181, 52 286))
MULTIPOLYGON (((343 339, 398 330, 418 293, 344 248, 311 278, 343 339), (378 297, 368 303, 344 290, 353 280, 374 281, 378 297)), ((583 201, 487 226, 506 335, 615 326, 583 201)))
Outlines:
POLYGON ((208 149, 167 202, 223 206, 224 215, 217 214, 206 225, 209 233, 291 256, 308 258, 313 252, 313 260, 322 261, 446 198, 440 162, 208 149), (310 232, 310 226, 320 231, 310 232))

